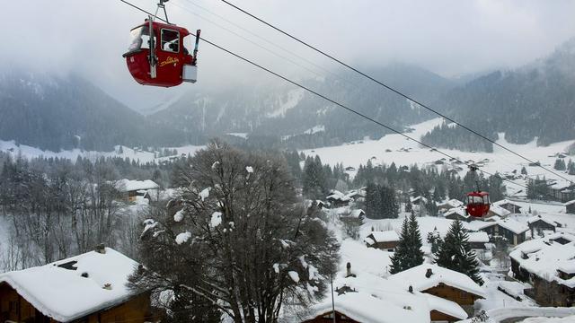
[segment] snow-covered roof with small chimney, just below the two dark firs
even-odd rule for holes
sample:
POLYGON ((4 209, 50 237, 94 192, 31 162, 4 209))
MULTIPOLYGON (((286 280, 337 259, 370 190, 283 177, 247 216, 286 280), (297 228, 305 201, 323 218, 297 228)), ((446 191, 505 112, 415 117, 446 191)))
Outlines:
POLYGON ((391 275, 388 279, 397 284, 403 284, 406 286, 411 285, 414 290, 420 292, 443 283, 485 298, 485 291, 483 288, 473 282, 473 280, 467 275, 434 264, 421 264, 420 266, 414 266, 410 269, 404 270, 403 272, 391 275), (433 273, 429 278, 426 277, 428 269, 431 269, 433 273))

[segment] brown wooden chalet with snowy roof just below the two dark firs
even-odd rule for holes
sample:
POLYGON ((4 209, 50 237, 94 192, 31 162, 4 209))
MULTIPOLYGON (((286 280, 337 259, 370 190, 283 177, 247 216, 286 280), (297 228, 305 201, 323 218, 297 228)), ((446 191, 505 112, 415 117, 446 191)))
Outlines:
MULTIPOLYGON (((411 286, 417 292, 453 301, 469 316, 473 316, 475 301, 485 298, 482 286, 467 275, 434 264, 414 266, 389 276, 388 280, 406 287, 411 286)), ((435 317, 433 314, 431 313, 431 320, 444 320, 439 314, 435 317)))

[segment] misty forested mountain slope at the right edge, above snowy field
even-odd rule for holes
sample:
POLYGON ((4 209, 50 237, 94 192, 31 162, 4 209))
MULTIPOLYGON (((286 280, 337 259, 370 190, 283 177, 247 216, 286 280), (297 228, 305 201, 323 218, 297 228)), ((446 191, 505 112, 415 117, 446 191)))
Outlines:
MULTIPOLYGON (((575 39, 533 64, 456 88, 435 105, 493 139, 505 133, 514 144, 535 137, 540 145, 575 138, 575 39)), ((436 146, 489 150, 489 144, 458 127, 438 128, 423 139, 436 146)))

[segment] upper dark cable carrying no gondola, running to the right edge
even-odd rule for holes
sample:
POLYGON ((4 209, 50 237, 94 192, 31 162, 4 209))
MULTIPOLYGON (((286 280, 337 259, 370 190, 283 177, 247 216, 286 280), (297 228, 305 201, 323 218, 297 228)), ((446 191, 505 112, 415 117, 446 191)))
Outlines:
MULTIPOLYGON (((323 50, 321 50, 321 49, 319 49, 319 48, 316 48, 316 47, 314 47, 313 45, 310 45, 309 43, 305 42, 305 41, 302 40, 302 39, 297 38, 296 36, 293 36, 292 34, 288 33, 287 31, 283 31, 283 30, 279 29, 279 27, 276 27, 275 25, 271 24, 270 22, 266 22, 265 20, 261 19, 260 17, 254 15, 254 14, 252 14, 252 13, 249 13, 248 11, 243 10, 243 9, 240 8, 239 6, 237 6, 237 5, 235 5, 235 4, 232 4, 232 3, 230 3, 230 2, 228 2, 228 1, 226 1, 226 0, 220 0, 220 1, 222 1, 223 3, 225 3, 225 4, 227 4, 227 5, 231 6, 231 7, 233 7, 234 9, 236 9, 236 10, 238 10, 238 11, 244 13, 244 14, 247 14, 248 16, 252 17, 253 19, 257 20, 258 22, 261 22, 261 23, 263 23, 263 24, 269 26, 270 28, 274 29, 275 31, 279 31, 280 33, 282 33, 282 34, 288 36, 290 39, 296 40, 297 42, 299 42, 300 44, 304 45, 305 47, 313 49, 314 51, 316 51, 316 52, 322 54, 324 57, 328 57, 328 58, 332 59, 333 61, 339 63, 340 65, 343 65, 343 66, 349 68, 350 70, 352 70, 352 71, 354 71, 354 72, 356 72, 356 73, 358 73, 358 74, 360 74, 360 75, 366 77, 367 79, 369 79, 369 80, 371 80, 371 81, 373 81, 373 82, 375 82, 375 83, 377 83, 377 84, 383 86, 385 89, 387 89, 387 90, 389 90, 389 91, 391 91, 391 92, 394 92, 394 93, 396 93, 397 95, 402 96, 404 99, 410 100, 411 102, 413 102, 413 103, 419 105, 420 107, 422 107, 422 108, 424 108, 424 109, 428 109, 429 111, 431 111, 431 112, 437 114, 439 117, 445 118, 446 120, 448 120, 448 121, 450 121, 450 122, 452 122, 452 123, 455 123, 455 124, 456 124, 457 126, 459 126, 459 127, 463 127, 465 130, 471 132, 472 134, 480 136, 482 139, 487 140, 487 141, 490 142, 491 144, 495 144, 495 145, 497 145, 498 147, 500 147, 500 148, 502 148, 502 149, 508 151, 509 153, 515 154, 517 157, 520 157, 520 158, 522 158, 523 160, 525 160, 525 161, 527 161, 527 162, 529 162, 529 163, 535 164, 534 161, 532 161, 531 159, 529 159, 529 158, 527 158, 527 157, 521 155, 520 153, 516 153, 516 152, 512 151, 511 149, 509 149, 508 147, 506 147, 506 146, 504 146, 504 145, 502 145, 502 144, 498 144, 498 143, 495 142, 494 140, 491 140, 491 139, 488 138, 487 136, 480 134, 479 132, 473 130, 472 128, 460 124, 459 122, 457 122, 457 121, 454 120, 453 118, 447 117, 446 115, 444 115, 443 113, 439 112, 438 110, 432 109, 432 108, 430 108, 429 106, 427 106, 426 104, 421 103, 421 102, 418 101, 418 100, 412 99, 409 95, 404 94, 403 92, 401 92, 401 91, 399 91, 399 90, 396 90, 394 87, 392 87, 392 86, 390 86, 390 85, 387 85, 387 84, 385 84, 385 83, 383 83, 383 82, 380 82, 380 81, 376 80, 374 77, 372 77, 372 76, 370 76, 370 75, 368 75, 368 74, 365 74, 365 73, 359 71, 357 68, 355 68, 355 67, 353 67, 353 66, 351 66, 351 65, 348 65, 348 64, 342 62, 340 59, 338 59, 338 58, 336 58, 336 57, 333 57, 333 56, 330 55, 330 54, 327 54, 327 53, 324 52, 323 50)), ((557 172, 555 172, 555 171, 553 171, 553 170, 550 170, 550 169, 544 167, 544 166, 541 164, 541 162, 538 162, 538 167, 540 167, 540 168, 542 168, 542 169, 544 169, 544 170, 546 170, 546 171, 552 173, 553 175, 555 175, 555 176, 557 176, 557 177, 559 177, 559 178, 561 178, 561 179, 565 179, 565 180, 567 180, 567 181, 573 183, 573 180, 572 180, 572 179, 567 179, 567 178, 563 177, 561 174, 559 174, 559 173, 557 173, 557 172)))

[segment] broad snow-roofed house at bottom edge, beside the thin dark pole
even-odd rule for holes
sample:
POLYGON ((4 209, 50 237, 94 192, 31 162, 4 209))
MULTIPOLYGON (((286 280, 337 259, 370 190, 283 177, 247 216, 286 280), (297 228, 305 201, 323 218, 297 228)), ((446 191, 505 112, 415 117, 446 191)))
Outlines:
POLYGON ((356 274, 336 277, 333 304, 328 297, 306 310, 301 320, 332 323, 334 314, 338 323, 456 322, 468 318, 456 301, 420 292, 405 281, 356 274))

